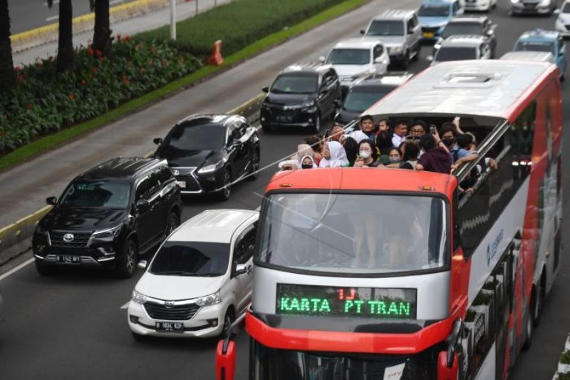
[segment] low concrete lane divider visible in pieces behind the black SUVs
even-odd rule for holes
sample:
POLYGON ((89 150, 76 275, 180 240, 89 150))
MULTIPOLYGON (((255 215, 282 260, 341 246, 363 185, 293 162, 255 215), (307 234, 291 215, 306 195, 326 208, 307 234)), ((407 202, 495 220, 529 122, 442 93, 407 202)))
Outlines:
MULTIPOLYGON (((249 123, 255 123, 259 120, 259 109, 264 98, 265 94, 259 93, 249 101, 227 111, 227 113, 243 115, 249 123)), ((143 157, 148 158, 152 153, 155 153, 154 150, 146 153, 143 157)), ((0 228, 0 266, 30 250, 31 237, 36 225, 52 208, 53 206, 42 207, 33 214, 0 228)))

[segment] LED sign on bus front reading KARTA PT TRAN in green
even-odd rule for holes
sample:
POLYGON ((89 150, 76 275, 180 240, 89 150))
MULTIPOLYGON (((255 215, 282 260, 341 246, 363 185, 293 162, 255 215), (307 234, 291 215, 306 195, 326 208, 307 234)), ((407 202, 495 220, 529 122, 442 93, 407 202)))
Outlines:
POLYGON ((416 289, 277 284, 276 314, 415 319, 416 289))

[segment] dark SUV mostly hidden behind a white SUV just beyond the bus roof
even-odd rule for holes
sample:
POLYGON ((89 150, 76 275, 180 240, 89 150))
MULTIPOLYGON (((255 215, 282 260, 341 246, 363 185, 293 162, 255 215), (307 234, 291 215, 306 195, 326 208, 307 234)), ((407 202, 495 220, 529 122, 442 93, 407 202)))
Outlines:
POLYGON ((497 35, 494 30, 497 24, 493 24, 487 16, 460 16, 454 17, 443 29, 441 37, 433 46, 433 55, 441 47, 441 42, 451 36, 484 36, 491 48, 491 58, 494 58, 497 50, 497 35))

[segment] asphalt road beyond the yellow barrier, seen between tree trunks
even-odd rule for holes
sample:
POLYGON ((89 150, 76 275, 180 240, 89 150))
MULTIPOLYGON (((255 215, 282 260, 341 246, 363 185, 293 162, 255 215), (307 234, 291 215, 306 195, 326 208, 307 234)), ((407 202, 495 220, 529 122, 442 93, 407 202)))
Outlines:
MULTIPOLYGON (((110 0, 110 6, 130 3, 134 0, 110 0)), ((73 16, 91 13, 89 0, 73 0, 73 16)), ((59 0, 53 0, 48 7, 46 0, 8 0, 12 34, 39 28, 58 22, 59 0)))

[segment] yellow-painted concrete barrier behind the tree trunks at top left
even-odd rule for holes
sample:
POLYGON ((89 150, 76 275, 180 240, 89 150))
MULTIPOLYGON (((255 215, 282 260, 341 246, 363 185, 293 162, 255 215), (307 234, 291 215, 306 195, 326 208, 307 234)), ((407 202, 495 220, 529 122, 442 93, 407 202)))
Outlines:
MULTIPOLYGON (((170 3, 169 0, 137 0, 127 4, 113 6, 109 9, 110 24, 146 14, 149 11, 161 9, 170 3)), ((73 34, 93 30, 95 14, 84 14, 73 18, 73 34)), ((28 48, 43 45, 58 39, 58 23, 31 29, 10 36, 12 52, 18 53, 28 48)))

